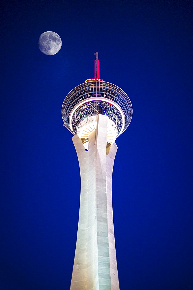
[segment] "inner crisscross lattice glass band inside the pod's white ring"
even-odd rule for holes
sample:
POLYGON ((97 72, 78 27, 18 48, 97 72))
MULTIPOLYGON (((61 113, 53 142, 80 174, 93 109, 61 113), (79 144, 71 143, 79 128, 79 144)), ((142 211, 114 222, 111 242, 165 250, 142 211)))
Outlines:
POLYGON ((75 133, 77 132, 78 125, 83 119, 98 114, 107 115, 116 125, 119 134, 123 124, 121 114, 112 104, 99 101, 87 102, 75 111, 72 117, 72 126, 75 133))

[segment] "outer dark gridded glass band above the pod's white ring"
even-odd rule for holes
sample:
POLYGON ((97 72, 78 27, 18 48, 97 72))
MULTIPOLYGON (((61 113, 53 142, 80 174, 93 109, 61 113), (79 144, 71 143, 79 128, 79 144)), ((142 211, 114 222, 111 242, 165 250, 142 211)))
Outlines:
POLYGON ((123 131, 129 126, 132 117, 132 105, 127 94, 118 86, 106 81, 89 81, 83 83, 68 93, 62 105, 62 118, 67 128, 69 126, 69 116, 73 108, 91 97, 103 97, 107 102, 114 101, 125 115, 125 126, 123 131))

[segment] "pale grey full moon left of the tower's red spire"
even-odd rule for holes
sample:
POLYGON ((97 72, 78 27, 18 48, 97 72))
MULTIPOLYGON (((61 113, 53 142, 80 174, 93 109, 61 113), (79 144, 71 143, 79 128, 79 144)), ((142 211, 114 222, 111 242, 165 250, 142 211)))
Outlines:
POLYGON ((62 46, 60 36, 53 31, 46 31, 38 40, 39 49, 46 55, 55 55, 62 46))

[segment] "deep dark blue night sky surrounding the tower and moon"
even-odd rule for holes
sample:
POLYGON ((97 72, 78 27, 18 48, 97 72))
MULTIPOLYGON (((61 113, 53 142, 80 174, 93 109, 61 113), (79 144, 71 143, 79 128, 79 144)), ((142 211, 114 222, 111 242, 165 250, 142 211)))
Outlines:
POLYGON ((70 289, 80 176, 61 107, 98 51, 133 105, 112 182, 120 290, 192 290, 192 1, 7 0, 1 14, 0 289, 70 289))

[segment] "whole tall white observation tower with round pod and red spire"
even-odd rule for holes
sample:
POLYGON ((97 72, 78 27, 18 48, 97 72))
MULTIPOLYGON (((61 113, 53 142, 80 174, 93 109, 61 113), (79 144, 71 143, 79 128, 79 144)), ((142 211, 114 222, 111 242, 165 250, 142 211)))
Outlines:
POLYGON ((94 78, 68 93, 64 126, 74 135, 81 193, 77 243, 70 290, 119 290, 113 211, 112 171, 116 138, 129 126, 127 94, 100 79, 98 52, 94 78))

